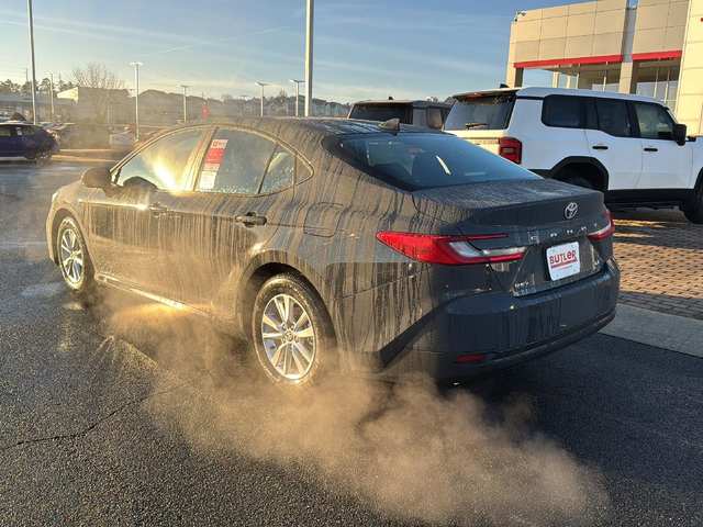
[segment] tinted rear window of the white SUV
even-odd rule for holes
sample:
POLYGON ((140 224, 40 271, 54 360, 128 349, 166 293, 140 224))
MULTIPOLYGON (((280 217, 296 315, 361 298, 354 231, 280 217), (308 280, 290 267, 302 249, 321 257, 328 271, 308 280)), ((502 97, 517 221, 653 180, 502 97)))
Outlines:
POLYGON ((444 130, 505 130, 515 103, 514 93, 457 99, 444 130))

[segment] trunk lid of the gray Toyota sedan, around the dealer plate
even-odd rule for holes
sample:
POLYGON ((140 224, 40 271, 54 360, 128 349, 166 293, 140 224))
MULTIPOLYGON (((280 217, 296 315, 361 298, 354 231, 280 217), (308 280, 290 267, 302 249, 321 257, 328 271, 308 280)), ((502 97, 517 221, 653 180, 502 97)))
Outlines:
POLYGON ((421 213, 454 224, 466 236, 506 235, 471 240, 477 249, 525 247, 520 260, 490 264, 503 289, 515 296, 580 280, 604 266, 587 237, 610 222, 600 192, 525 179, 416 191, 413 202, 421 213), (568 218, 572 203, 578 211, 568 218), (578 244, 580 272, 553 280, 547 250, 571 243, 578 244))

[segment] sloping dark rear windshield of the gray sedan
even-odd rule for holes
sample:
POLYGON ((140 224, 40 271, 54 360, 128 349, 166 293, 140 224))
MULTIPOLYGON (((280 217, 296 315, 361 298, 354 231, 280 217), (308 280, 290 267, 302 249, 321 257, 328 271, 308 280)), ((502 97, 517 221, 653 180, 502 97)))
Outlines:
POLYGON ((449 134, 364 134, 325 139, 336 157, 381 181, 415 190, 538 176, 449 134))

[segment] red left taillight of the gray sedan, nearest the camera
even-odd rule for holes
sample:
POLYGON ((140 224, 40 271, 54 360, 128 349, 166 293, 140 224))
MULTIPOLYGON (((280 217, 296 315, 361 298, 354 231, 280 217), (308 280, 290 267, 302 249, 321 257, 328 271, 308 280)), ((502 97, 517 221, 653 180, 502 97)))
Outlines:
POLYGON ((489 236, 436 236, 432 234, 378 233, 379 242, 405 255, 413 260, 443 266, 470 266, 518 260, 525 254, 525 247, 507 249, 475 248, 469 240, 505 238, 506 234, 489 236))

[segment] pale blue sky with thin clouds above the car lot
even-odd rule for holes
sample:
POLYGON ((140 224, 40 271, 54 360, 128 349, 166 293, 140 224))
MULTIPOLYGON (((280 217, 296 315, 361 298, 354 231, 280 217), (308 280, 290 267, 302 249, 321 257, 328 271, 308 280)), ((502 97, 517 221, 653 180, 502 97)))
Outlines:
MULTIPOLYGON (((495 88, 515 13, 565 3, 579 2, 316 0, 313 97, 445 99, 495 88)), ((2 80, 23 82, 30 67, 26 9, 0 2, 2 80)), ((133 88, 133 61, 144 63, 140 91, 189 85, 193 94, 258 97, 260 81, 271 85, 267 96, 293 94, 289 79, 304 79, 305 0, 33 0, 33 11, 37 82, 101 63, 133 88)), ((525 75, 528 85, 550 82, 525 75)))

